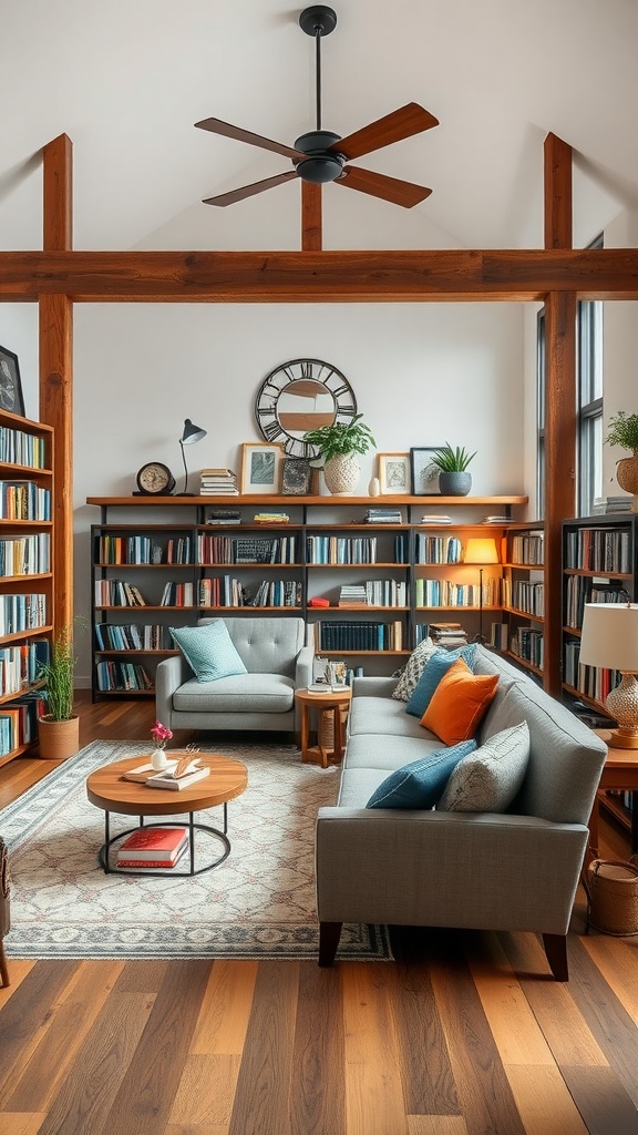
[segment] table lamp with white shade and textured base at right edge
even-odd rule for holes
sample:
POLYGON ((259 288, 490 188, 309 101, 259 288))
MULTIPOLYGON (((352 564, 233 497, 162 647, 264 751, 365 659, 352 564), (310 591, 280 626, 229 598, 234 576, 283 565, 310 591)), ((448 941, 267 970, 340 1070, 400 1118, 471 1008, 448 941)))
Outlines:
POLYGON ((610 743, 638 749, 638 603, 586 603, 579 661, 620 671, 619 686, 605 698, 605 708, 619 724, 610 743))

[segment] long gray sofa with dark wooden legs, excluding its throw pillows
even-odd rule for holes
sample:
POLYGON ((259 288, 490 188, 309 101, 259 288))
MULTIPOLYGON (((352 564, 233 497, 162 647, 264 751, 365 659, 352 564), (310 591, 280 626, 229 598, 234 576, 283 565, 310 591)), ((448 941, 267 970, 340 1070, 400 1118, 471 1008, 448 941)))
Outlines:
POLYGON ((505 814, 367 809, 396 768, 440 741, 391 697, 393 679, 355 679, 336 807, 317 819, 319 965, 344 922, 534 931, 557 981, 587 847, 603 742, 505 659, 478 647, 475 672, 498 674, 478 741, 527 721, 530 757, 505 814))

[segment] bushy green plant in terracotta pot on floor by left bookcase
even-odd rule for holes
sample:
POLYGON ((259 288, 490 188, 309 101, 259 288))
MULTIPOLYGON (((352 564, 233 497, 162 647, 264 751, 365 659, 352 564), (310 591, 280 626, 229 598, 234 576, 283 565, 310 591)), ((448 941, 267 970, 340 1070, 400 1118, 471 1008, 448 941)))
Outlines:
POLYGON ((73 757, 79 749, 79 717, 73 712, 74 673, 73 625, 62 627, 37 675, 45 683, 47 703, 47 713, 37 721, 40 756, 48 760, 73 757))

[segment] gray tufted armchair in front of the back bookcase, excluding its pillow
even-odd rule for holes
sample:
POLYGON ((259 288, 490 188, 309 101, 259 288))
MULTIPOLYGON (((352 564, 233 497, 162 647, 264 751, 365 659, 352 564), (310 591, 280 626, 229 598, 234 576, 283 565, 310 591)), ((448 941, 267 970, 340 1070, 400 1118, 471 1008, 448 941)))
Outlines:
POLYGON ((182 655, 166 658, 156 672, 157 720, 171 730, 297 729, 294 693, 312 681, 314 656, 303 619, 238 615, 224 622, 247 673, 200 682, 182 655))

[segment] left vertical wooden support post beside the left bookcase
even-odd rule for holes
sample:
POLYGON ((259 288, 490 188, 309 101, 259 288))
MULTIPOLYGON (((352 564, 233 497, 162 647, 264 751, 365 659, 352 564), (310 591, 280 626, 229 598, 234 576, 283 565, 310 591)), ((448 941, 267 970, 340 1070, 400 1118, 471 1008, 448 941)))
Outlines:
MULTIPOLYGON (((73 245, 70 140, 60 134, 44 146, 43 246, 73 245)), ((52 426, 53 625, 73 620, 73 303, 68 295, 40 296, 40 419, 52 426)))

